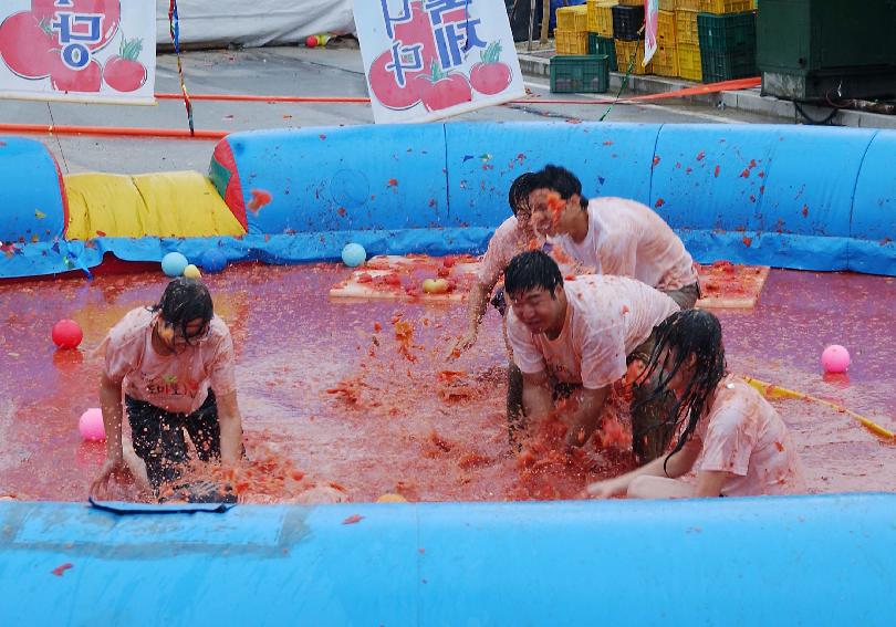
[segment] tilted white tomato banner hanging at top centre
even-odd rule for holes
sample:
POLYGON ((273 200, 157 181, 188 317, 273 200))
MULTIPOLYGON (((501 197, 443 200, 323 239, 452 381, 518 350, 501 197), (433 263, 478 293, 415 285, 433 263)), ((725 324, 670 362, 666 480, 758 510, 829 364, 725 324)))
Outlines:
POLYGON ((355 0, 355 25, 377 123, 525 94, 503 0, 355 0))

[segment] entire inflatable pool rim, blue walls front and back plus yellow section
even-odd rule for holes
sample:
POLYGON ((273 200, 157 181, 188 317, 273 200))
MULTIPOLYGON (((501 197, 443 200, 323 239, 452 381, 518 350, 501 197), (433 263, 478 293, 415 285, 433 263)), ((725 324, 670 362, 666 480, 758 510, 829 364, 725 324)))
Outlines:
MULTIPOLYGON (((0 279, 77 283, 113 259, 209 248, 279 264, 348 241, 479 252, 510 182, 546 163, 588 196, 654 207, 702 262, 894 276, 894 157, 884 130, 430 124, 235 134, 207 174, 61 176, 43 144, 0 137, 0 279)), ((884 493, 220 513, 0 501, 0 537, 2 624, 889 625, 896 581, 884 493)))

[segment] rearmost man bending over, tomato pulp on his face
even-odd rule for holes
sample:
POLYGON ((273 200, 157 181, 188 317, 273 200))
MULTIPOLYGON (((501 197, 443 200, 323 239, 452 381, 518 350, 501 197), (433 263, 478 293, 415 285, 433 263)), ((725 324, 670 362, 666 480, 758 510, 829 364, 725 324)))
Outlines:
POLYGON ((595 274, 637 279, 681 309, 699 299, 694 259, 649 207, 624 198, 586 200, 575 175, 552 165, 534 173, 528 187, 532 227, 571 262, 595 274))

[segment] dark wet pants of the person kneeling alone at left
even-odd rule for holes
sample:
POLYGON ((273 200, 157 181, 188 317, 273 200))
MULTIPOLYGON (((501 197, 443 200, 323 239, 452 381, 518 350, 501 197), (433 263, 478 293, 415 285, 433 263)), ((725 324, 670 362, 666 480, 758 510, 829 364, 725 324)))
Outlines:
POLYGON ((185 429, 199 459, 211 461, 221 458, 218 404, 210 389, 206 401, 192 414, 166 411, 129 396, 125 397, 125 407, 134 452, 146 463, 146 474, 156 490, 163 483, 179 479, 183 464, 189 460, 185 429))

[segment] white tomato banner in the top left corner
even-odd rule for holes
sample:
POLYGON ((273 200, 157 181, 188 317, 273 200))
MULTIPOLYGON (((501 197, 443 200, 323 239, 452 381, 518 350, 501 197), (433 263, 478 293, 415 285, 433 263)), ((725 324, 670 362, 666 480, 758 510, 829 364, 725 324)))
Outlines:
POLYGON ((2 0, 0 97, 153 104, 155 0, 2 0))

